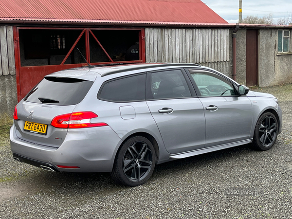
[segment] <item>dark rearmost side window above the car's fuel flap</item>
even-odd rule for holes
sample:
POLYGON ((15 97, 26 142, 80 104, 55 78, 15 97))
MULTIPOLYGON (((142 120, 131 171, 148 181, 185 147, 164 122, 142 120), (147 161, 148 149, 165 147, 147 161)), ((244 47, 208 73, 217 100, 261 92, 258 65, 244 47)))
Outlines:
POLYGON ((111 102, 133 102, 145 100, 146 74, 123 77, 106 82, 98 98, 111 102))

